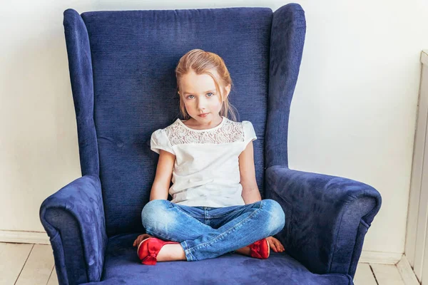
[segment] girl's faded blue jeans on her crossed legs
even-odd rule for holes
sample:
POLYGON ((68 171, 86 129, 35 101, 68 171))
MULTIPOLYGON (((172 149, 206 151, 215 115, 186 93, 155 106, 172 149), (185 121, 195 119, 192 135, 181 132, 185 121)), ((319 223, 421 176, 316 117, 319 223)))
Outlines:
POLYGON ((285 213, 278 202, 263 199, 229 207, 190 207, 151 200, 141 219, 146 233, 180 242, 188 261, 212 259, 280 232, 285 213))

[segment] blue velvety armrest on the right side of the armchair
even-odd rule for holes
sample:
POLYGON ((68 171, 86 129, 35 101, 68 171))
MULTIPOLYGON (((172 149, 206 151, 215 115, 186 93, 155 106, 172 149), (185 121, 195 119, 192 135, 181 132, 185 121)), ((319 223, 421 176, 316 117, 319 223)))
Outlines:
POLYGON ((355 275, 367 229, 382 199, 370 185, 344 177, 290 170, 266 170, 267 199, 285 212, 277 234, 285 252, 317 274, 355 275))

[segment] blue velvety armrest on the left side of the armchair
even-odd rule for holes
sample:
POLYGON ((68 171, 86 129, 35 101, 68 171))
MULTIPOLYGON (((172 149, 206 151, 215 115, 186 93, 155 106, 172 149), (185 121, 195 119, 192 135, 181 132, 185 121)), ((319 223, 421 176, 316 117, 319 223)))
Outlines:
POLYGON ((99 177, 85 175, 62 187, 44 200, 39 214, 59 284, 100 281, 107 234, 99 177))

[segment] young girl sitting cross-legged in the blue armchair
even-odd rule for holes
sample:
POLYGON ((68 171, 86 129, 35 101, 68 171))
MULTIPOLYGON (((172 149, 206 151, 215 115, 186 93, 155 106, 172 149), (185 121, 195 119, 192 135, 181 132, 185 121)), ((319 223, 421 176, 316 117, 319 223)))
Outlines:
POLYGON ((159 159, 150 201, 141 212, 146 234, 133 243, 138 257, 156 264, 228 252, 266 259, 270 248, 284 251, 272 235, 284 227, 285 213, 276 201, 260 197, 253 159, 257 137, 250 121, 235 122, 228 100, 232 80, 223 59, 194 49, 180 58, 175 75, 187 120, 151 135, 159 159))

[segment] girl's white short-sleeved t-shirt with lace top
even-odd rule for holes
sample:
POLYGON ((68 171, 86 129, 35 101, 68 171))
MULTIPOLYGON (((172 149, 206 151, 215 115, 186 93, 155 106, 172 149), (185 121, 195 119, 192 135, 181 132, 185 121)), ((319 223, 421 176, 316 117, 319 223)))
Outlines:
POLYGON ((238 157, 257 137, 250 121, 222 118, 208 130, 189 128, 177 119, 151 135, 151 150, 175 155, 171 202, 192 207, 245 204, 238 157))

